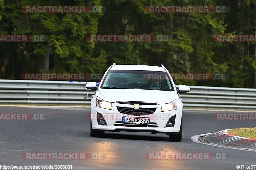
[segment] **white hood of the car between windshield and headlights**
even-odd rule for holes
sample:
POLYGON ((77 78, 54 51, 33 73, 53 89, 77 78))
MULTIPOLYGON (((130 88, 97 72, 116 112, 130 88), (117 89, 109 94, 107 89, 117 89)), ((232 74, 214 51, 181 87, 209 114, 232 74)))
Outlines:
POLYGON ((97 96, 102 100, 116 101, 145 101, 164 104, 177 99, 175 91, 144 90, 144 89, 98 89, 97 96))

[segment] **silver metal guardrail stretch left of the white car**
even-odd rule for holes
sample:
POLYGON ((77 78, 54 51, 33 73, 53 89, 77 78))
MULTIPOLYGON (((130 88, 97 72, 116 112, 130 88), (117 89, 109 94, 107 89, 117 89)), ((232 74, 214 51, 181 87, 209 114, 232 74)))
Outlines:
MULTIPOLYGON (((90 104, 86 82, 0 80, 0 103, 90 104)), ((92 95, 91 95, 92 96, 92 95)))

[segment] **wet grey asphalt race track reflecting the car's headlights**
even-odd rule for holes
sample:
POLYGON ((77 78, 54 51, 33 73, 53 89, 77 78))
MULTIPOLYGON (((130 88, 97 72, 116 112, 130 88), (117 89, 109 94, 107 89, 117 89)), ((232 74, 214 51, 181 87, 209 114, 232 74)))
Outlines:
MULTIPOLYGON (((221 111, 183 111, 182 142, 165 134, 106 132, 90 137, 85 107, 5 107, 0 113, 44 114, 44 120, 0 121, 0 165, 72 165, 72 169, 236 169, 256 165, 256 153, 198 144, 191 136, 223 129, 252 127, 256 121, 214 120, 221 111), (104 153, 106 159, 26 160, 22 153, 104 153), (146 159, 147 153, 212 153, 226 159, 146 159)), ((256 167, 255 167, 256 169, 256 167)))

